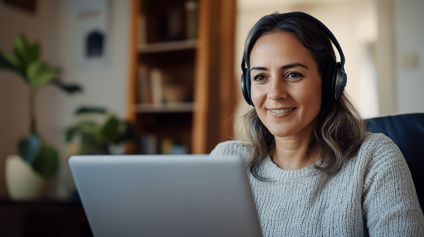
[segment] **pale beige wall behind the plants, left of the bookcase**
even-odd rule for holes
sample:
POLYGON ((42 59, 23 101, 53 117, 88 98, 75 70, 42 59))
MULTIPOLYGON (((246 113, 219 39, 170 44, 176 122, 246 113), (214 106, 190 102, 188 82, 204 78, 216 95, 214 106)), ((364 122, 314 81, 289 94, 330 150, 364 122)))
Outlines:
MULTIPOLYGON (((127 115, 128 50, 130 29, 130 0, 110 0, 109 32, 107 34, 106 66, 81 67, 75 61, 74 0, 39 0, 36 14, 31 15, 0 1, 0 48, 11 50, 18 32, 42 44, 42 58, 59 67, 61 79, 83 87, 79 94, 68 95, 52 85, 39 90, 36 102, 38 130, 59 149, 61 170, 51 195, 67 198, 73 189, 73 180, 67 165, 67 148, 63 132, 76 119, 73 112, 82 105, 106 107, 120 118, 127 115)), ((0 72, 0 196, 6 195, 4 186, 4 159, 16 154, 17 139, 28 135, 26 111, 28 90, 15 75, 0 72)))

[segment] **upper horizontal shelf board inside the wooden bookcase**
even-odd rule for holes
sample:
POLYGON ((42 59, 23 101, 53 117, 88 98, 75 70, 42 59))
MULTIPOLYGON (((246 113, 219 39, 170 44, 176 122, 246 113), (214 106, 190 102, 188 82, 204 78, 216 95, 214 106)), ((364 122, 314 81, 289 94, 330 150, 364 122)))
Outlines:
POLYGON ((155 53, 155 52, 169 52, 177 50, 190 50, 197 47, 195 39, 187 39, 181 41, 159 42, 151 44, 139 44, 139 53, 155 53))

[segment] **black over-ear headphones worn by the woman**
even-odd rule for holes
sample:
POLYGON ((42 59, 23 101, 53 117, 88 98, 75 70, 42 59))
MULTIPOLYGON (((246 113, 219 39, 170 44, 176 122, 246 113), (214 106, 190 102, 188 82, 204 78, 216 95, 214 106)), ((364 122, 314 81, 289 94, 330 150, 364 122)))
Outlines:
MULTIPOLYGON (((308 19, 310 19, 312 22, 315 23, 321 30, 324 31, 324 33, 329 37, 329 39, 333 42, 336 49, 339 52, 340 55, 340 61, 336 62, 334 59, 331 60, 326 70, 323 74, 323 84, 322 84, 322 102, 321 105, 328 105, 331 102, 336 101, 340 98, 340 96, 343 93, 344 88, 346 87, 346 73, 344 72, 344 55, 343 51, 340 48, 340 44, 334 37, 333 33, 318 19, 315 17, 312 17, 309 14, 306 14, 304 12, 295 11, 284 14, 287 17, 294 17, 294 16, 303 16, 308 19)), ((245 67, 245 52, 243 52, 243 59, 241 63, 241 68, 243 70, 243 74, 241 75, 241 89, 243 92, 244 99, 249 105, 253 105, 251 94, 250 94, 250 86, 251 86, 251 78, 250 78, 250 69, 245 67)))

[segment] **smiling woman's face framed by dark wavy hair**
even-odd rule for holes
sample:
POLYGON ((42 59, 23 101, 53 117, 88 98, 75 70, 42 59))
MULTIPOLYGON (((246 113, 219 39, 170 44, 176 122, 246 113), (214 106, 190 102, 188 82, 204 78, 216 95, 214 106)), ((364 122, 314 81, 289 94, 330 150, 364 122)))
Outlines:
POLYGON ((276 137, 309 136, 321 107, 317 63, 289 32, 261 36, 250 55, 251 98, 276 137))

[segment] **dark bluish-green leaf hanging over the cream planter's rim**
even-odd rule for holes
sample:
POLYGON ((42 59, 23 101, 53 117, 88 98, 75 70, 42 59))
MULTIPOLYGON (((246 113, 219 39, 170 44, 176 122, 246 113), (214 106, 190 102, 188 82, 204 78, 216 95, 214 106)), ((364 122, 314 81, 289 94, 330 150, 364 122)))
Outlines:
POLYGON ((33 133, 28 138, 21 138, 18 141, 18 154, 28 164, 32 165, 37 155, 40 153, 42 146, 41 137, 38 134, 33 133))

